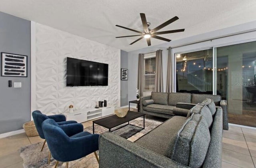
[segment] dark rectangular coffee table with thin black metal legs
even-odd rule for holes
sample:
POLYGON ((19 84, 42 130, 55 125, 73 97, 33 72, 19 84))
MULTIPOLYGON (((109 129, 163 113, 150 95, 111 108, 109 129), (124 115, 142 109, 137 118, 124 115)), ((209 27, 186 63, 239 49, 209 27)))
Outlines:
MULTIPOLYGON (((109 117, 105 117, 105 118, 102 118, 102 119, 98 119, 98 120, 94 120, 92 121, 92 132, 94 134, 94 124, 97 124, 97 125, 100 125, 100 126, 103 126, 105 128, 108 128, 109 132, 112 132, 114 130, 111 131, 111 128, 114 128, 118 125, 121 125, 121 124, 124 124, 124 123, 127 123, 127 125, 129 125, 129 121, 132 121, 138 117, 141 117, 143 116, 143 129, 145 128, 145 114, 143 113, 137 113, 137 112, 134 112, 134 111, 128 111, 127 115, 125 117, 117 117, 117 115, 111 115, 109 117)), ((132 125, 132 124, 130 124, 132 125)), ((126 125, 124 125, 126 126, 126 125)), ((124 127, 122 126, 122 127, 124 127)), ((120 128, 122 128, 120 127, 120 128)), ((138 126, 140 127, 140 126, 138 126)), ((142 127, 140 127, 142 128, 142 127)), ((119 128, 117 128, 119 129, 119 128)), ((115 130, 117 130, 115 129, 115 130)))

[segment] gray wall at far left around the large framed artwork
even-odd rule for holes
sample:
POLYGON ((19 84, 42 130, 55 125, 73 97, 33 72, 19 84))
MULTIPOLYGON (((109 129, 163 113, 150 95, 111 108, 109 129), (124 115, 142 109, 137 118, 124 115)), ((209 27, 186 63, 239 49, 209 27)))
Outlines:
POLYGON ((0 77, 1 134, 22 129, 30 121, 30 21, 0 12, 0 22, 0 52, 28 55, 28 77, 0 77), (14 88, 14 82, 22 87, 14 88))

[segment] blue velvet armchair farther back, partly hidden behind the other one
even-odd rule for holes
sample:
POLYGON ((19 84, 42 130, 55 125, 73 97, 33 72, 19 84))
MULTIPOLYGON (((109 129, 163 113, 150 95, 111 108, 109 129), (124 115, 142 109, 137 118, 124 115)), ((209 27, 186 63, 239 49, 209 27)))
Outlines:
MULTIPOLYGON (((72 135, 78 133, 78 131, 79 132, 83 131, 82 124, 78 124, 76 121, 66 121, 66 117, 64 115, 49 115, 49 116, 47 116, 47 115, 42 114, 41 111, 36 110, 36 111, 33 111, 32 117, 34 119, 36 130, 37 130, 40 138, 42 138, 42 139, 45 139, 44 132, 42 130, 42 123, 46 119, 53 119, 54 121, 57 122, 58 125, 66 125, 66 126, 63 126, 62 129, 69 136, 72 136, 72 135), (67 126, 67 124, 68 124, 68 126, 67 126)), ((44 140, 44 144, 42 146, 41 151, 44 148, 45 142, 46 142, 46 140, 44 140)), ((49 154, 48 163, 50 164, 50 154, 49 154)))

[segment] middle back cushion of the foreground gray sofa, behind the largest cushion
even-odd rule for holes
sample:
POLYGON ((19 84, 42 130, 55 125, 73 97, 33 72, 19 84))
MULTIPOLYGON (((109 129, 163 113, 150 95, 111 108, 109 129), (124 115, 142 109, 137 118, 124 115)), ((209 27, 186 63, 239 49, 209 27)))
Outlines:
POLYGON ((204 116, 204 118, 206 119, 206 122, 208 124, 208 128, 210 129, 212 126, 212 113, 210 111, 210 109, 201 103, 198 103, 191 111, 192 113, 199 113, 201 115, 204 116))

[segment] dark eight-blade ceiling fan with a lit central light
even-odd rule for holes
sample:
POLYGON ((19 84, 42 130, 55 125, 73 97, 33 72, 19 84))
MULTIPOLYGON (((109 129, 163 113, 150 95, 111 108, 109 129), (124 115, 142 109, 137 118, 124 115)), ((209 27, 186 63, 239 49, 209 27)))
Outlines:
POLYGON ((143 13, 140 13, 140 18, 141 18, 141 21, 142 21, 142 25, 143 25, 143 28, 144 28, 144 32, 140 32, 138 30, 134 30, 134 29, 130 29, 130 28, 126 28, 124 26, 119 26, 119 25, 116 25, 117 27, 120 27, 120 28, 124 28, 124 29, 127 29, 127 30, 131 30, 133 32, 137 32, 139 33, 138 35, 132 35, 132 36, 120 36, 120 37, 116 37, 116 38, 126 38, 126 37, 134 37, 134 36, 141 36, 140 38, 138 38, 137 40, 135 40, 134 42, 130 43, 130 45, 138 42, 139 40, 145 38, 147 40, 147 43, 148 43, 148 46, 151 45, 151 42, 150 42, 150 38, 156 38, 156 39, 159 39, 159 40, 164 40, 164 41, 167 41, 167 42, 170 42, 171 40, 167 39, 167 38, 162 38, 160 36, 157 36, 157 35, 160 35, 160 34, 169 34, 169 33, 176 33, 176 32, 184 32, 185 29, 178 29, 178 30, 169 30, 169 31, 163 31, 163 32, 157 32, 158 30, 164 28, 165 26, 171 24, 172 22, 178 20, 179 18, 177 16, 175 16, 174 18, 171 18, 170 20, 167 20, 166 22, 164 22, 163 24, 160 24, 159 26, 157 26, 156 28, 150 30, 148 28, 148 26, 150 25, 149 22, 147 22, 146 20, 146 15, 143 14, 143 13))

